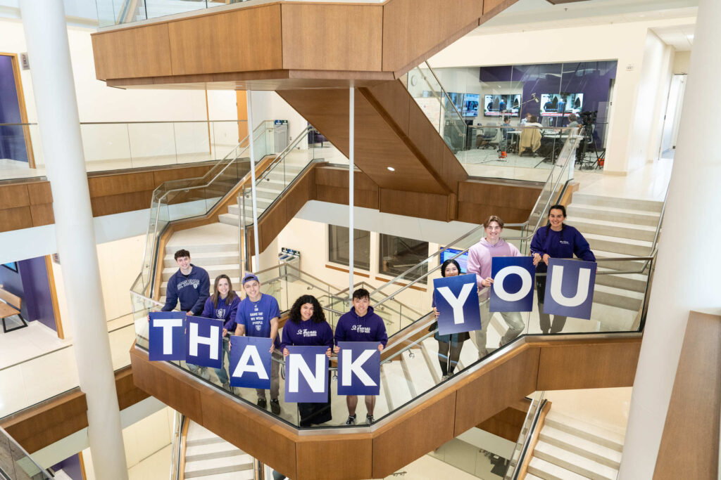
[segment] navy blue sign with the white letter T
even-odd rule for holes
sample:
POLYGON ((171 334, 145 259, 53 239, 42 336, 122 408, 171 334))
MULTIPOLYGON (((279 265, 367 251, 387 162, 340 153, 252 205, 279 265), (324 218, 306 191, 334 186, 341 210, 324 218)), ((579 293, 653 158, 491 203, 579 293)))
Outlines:
POLYGON ((150 312, 148 358, 185 360, 185 312, 150 312))

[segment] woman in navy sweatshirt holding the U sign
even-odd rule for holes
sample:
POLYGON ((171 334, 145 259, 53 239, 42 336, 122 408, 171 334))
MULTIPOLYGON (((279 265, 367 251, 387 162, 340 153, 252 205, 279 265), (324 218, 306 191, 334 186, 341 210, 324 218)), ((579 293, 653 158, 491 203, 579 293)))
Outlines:
MULTIPOLYGON (((531 240, 531 255, 534 257, 536 273, 547 273, 549 258, 578 258, 587 262, 595 262, 596 255, 590 251, 588 241, 581 233, 563 222, 566 219, 566 207, 554 205, 549 209, 548 225, 536 230, 531 240)), ((541 332, 558 333, 566 324, 566 317, 551 316, 543 312, 546 294, 546 276, 536 276, 536 295, 539 304, 539 320, 541 332)))

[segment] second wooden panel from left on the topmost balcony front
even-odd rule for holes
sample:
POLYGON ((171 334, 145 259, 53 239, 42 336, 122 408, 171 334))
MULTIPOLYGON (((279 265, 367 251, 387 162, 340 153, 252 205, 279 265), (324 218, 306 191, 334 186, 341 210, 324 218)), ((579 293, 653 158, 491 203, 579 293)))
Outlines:
POLYGON ((167 28, 173 75, 283 67, 280 4, 211 12, 167 28))

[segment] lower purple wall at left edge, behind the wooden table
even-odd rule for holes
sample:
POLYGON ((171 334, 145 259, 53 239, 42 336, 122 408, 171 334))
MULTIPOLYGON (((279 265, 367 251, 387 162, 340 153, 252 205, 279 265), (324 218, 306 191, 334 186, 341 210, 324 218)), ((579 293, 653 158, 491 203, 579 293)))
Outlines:
POLYGON ((17 262, 17 272, 0 266, 0 284, 22 298, 20 312, 27 322, 37 320, 57 331, 44 257, 17 262))

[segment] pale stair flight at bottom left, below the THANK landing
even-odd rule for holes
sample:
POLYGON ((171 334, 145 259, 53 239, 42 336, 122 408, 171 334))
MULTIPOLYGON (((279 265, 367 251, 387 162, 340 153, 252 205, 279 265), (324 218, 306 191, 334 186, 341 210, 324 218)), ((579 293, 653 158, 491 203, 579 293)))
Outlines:
MULTIPOLYGON (((188 420, 190 422, 190 420, 188 420)), ((253 478, 253 458, 210 430, 190 422, 185 442, 185 479, 253 478)))

